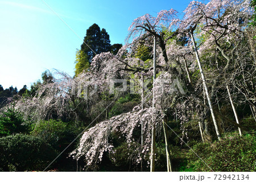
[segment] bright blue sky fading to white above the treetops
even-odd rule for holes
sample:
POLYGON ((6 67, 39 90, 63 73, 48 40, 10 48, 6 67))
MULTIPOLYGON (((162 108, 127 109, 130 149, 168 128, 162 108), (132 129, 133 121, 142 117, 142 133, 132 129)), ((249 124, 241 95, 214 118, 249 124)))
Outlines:
MULTIPOLYGON (((171 8, 182 11, 190 1, 44 0, 80 38, 93 23, 105 28, 111 43, 124 43, 135 18, 171 8)), ((75 53, 82 40, 42 0, 0 0, 0 84, 19 89, 58 69, 74 75, 75 53)))

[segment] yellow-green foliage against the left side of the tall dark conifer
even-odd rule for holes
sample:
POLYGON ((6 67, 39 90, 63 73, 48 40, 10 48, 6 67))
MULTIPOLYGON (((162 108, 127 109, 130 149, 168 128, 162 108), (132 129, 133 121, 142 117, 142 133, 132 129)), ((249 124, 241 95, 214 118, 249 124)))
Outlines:
POLYGON ((90 67, 88 56, 81 49, 76 51, 75 63, 75 76, 79 75, 82 71, 88 71, 90 67))

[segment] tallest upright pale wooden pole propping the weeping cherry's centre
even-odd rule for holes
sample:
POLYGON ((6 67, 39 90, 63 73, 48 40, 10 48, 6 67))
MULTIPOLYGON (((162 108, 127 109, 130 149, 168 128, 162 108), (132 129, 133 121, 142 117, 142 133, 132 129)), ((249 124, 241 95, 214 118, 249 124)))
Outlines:
MULTIPOLYGON (((156 52, 156 43, 155 43, 155 36, 154 36, 154 76, 153 76, 153 99, 152 99, 152 107, 155 107, 155 93, 154 93, 154 86, 155 86, 155 78, 156 78, 156 63, 155 63, 155 52, 156 52)), ((150 172, 155 171, 155 121, 154 117, 152 118, 152 133, 151 133, 151 159, 150 159, 150 172)))

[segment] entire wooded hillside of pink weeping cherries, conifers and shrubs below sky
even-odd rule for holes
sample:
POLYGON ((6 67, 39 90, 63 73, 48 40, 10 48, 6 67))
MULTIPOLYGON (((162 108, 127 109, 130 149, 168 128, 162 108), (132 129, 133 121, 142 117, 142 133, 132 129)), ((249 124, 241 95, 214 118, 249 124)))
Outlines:
POLYGON ((256 1, 93 24, 75 76, 0 85, 0 171, 256 171, 256 1))

